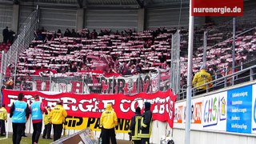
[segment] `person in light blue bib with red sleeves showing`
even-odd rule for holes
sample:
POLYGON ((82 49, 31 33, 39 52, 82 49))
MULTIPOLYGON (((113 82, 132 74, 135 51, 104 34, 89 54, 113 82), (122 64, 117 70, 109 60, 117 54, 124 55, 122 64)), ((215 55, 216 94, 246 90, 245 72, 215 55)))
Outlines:
POLYGON ((34 96, 34 102, 31 104, 31 119, 33 123, 32 143, 37 144, 42 132, 42 114, 47 110, 42 102, 39 101, 39 95, 34 96))

